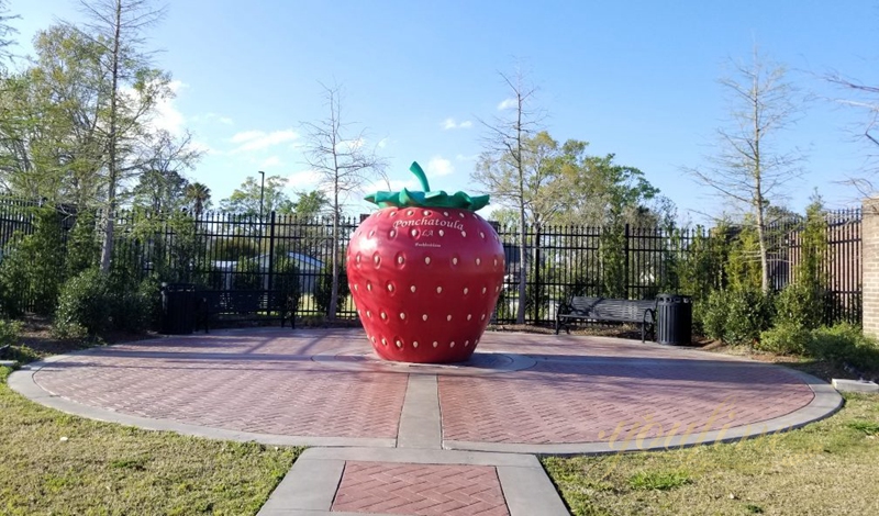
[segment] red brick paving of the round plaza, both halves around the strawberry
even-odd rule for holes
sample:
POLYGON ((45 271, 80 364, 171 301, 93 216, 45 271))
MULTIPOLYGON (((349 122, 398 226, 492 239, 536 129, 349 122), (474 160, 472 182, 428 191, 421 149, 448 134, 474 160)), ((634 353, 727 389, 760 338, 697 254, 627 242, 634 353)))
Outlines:
MULTIPOLYGON (((352 369, 314 355, 368 352, 363 330, 253 330, 166 338, 63 357, 44 389, 124 414, 258 434, 394 438, 407 368, 352 369)), ((487 333, 479 351, 528 370, 439 375, 443 435, 487 442, 607 441, 754 424, 812 400, 783 369, 610 338, 487 333), (712 419, 712 414, 714 418, 712 419), (603 434, 602 434, 603 433, 603 434)))

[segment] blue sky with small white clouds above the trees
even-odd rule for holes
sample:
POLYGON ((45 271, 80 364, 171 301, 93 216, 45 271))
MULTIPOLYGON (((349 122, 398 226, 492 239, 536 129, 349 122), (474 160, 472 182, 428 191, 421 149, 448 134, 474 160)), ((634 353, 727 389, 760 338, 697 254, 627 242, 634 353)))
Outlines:
MULTIPOLYGON (((381 143, 396 187, 414 187, 408 167, 418 160, 434 189, 478 191, 469 179, 486 134, 478 119, 499 114, 509 97, 499 72, 519 63, 556 139, 588 141, 590 154, 639 168, 685 218, 717 213, 723 206, 681 170, 711 153, 728 115, 717 79, 756 42, 826 99, 785 135, 782 145, 808 158, 785 204, 802 210, 814 189, 832 207, 859 202, 837 181, 866 173, 869 149, 852 130, 867 115, 834 103, 846 92, 821 76, 879 85, 879 1, 169 3, 149 33, 177 87, 162 123, 191 130, 208 149, 188 176, 215 201, 257 170, 289 177, 291 195, 316 187, 301 123, 325 116, 321 82, 343 87, 343 120, 381 143)), ((73 0, 11 0, 10 11, 22 16, 21 54, 35 31, 79 16, 73 0)), ((364 210, 355 200, 352 211, 364 210)))

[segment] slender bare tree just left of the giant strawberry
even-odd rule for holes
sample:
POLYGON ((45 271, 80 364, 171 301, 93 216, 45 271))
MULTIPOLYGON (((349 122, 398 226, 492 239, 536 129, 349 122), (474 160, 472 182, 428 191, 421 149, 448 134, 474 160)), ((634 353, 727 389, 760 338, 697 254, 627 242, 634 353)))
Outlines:
POLYGON ((338 276, 341 272, 340 218, 348 195, 359 191, 364 183, 381 173, 385 160, 378 157, 375 147, 366 147, 364 130, 349 134, 351 123, 343 122, 342 89, 334 85, 321 85, 324 90, 326 117, 320 122, 302 125, 308 132, 305 162, 320 175, 321 183, 331 191, 332 203, 332 291, 330 295, 330 319, 336 316, 338 305, 338 276))

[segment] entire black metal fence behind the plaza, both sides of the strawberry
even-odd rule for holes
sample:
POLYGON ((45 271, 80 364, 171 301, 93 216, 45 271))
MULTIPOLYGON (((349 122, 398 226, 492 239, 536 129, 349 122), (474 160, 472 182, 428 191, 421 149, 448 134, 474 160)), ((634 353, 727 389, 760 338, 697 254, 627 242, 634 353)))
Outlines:
MULTIPOLYGON (((0 198, 0 250, 15 234, 34 231, 36 203, 0 198)), ((67 242, 76 215, 65 210, 59 231, 67 242)), ((81 217, 97 227, 100 216, 81 217)), ((830 321, 860 322, 860 210, 825 217, 824 265, 836 312, 830 321)), ((344 253, 358 225, 344 218, 302 220, 270 213, 260 220, 225 213, 198 216, 177 213, 155 216, 123 212, 115 217, 114 270, 141 279, 149 274, 168 282, 196 282, 213 289, 270 290, 293 270, 300 285, 301 315, 325 315, 329 305, 333 248, 344 271, 344 253)), ((770 227, 770 276, 775 289, 794 281, 802 257, 804 222, 786 221, 770 227)), ((496 225, 507 255, 504 289, 494 321, 512 323, 519 303, 519 278, 526 274, 526 323, 555 317, 557 302, 572 294, 653 299, 675 292, 703 299, 725 284, 731 243, 737 228, 643 228, 553 226, 527 228, 523 271, 520 232, 496 225)), ((97 231, 92 232, 97 240, 97 231)), ((355 318, 349 298, 337 316, 355 318)))

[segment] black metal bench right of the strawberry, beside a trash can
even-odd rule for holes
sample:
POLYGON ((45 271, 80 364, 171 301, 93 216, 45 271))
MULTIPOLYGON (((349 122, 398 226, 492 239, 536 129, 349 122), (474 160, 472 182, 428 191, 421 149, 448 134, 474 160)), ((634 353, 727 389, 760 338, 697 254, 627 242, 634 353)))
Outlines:
POLYGON ((656 338, 656 301, 574 296, 558 307, 556 335, 563 327, 570 333, 578 321, 638 324, 643 343, 648 332, 656 338))

